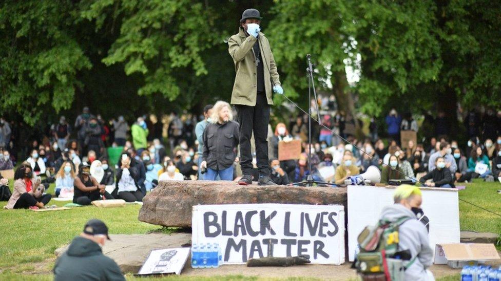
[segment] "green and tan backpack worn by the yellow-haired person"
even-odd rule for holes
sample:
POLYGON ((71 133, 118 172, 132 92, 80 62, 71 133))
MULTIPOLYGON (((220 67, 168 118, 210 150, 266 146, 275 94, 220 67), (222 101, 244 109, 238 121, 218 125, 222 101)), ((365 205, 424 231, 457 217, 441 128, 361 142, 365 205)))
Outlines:
POLYGON ((404 266, 404 259, 399 255, 398 228, 409 219, 411 218, 402 217, 394 222, 381 220, 375 226, 366 226, 358 235, 360 252, 356 256, 354 267, 363 280, 404 280, 405 270, 416 259, 414 257, 409 262, 406 261, 404 266))

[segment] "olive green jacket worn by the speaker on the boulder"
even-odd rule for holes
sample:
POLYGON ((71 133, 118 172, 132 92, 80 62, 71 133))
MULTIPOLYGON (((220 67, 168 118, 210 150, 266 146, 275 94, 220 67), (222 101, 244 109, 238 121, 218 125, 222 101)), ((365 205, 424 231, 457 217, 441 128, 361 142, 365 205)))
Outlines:
POLYGON ((256 106, 257 95, 257 68, 256 57, 252 47, 259 40, 261 57, 263 58, 264 70, 264 89, 268 104, 273 104, 273 86, 270 74, 274 84, 280 85, 280 77, 277 72, 277 65, 273 58, 272 49, 269 47, 269 41, 264 34, 259 32, 258 37, 247 36, 243 28, 240 32, 233 35, 228 40, 228 52, 235 62, 235 84, 233 85, 232 104, 241 104, 256 106))

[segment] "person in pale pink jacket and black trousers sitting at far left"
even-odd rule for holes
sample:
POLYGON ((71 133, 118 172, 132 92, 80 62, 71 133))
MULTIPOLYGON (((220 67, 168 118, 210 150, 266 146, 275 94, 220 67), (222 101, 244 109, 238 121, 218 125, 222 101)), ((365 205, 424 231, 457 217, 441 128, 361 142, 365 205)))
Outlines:
POLYGON ((29 165, 21 165, 14 173, 14 191, 5 206, 6 209, 44 208, 52 196, 43 194, 44 185, 40 177, 33 178, 29 165))

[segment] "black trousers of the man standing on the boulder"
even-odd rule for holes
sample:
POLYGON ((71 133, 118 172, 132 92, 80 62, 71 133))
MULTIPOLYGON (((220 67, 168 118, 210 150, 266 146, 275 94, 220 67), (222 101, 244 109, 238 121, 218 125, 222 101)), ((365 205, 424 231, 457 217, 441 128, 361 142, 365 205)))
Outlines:
POLYGON ((270 106, 265 93, 258 93, 256 106, 236 105, 240 124, 240 166, 242 174, 252 174, 251 137, 254 131, 259 176, 269 176, 268 123, 270 106))

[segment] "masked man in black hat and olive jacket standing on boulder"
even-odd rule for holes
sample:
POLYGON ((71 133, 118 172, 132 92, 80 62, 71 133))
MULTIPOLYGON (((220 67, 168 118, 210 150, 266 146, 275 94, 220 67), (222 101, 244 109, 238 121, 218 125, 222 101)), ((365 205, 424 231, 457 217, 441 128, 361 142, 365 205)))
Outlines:
POLYGON ((266 141, 269 109, 273 93, 283 94, 280 77, 269 42, 260 31, 261 16, 256 9, 247 9, 240 19, 240 30, 228 40, 228 52, 235 63, 237 75, 233 85, 240 124, 241 185, 252 184, 251 136, 254 131, 259 185, 273 185, 269 177, 268 144, 266 141))

